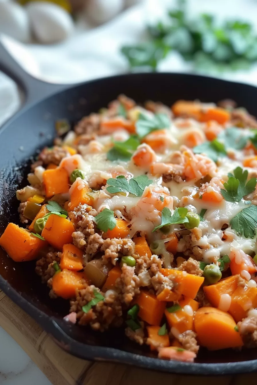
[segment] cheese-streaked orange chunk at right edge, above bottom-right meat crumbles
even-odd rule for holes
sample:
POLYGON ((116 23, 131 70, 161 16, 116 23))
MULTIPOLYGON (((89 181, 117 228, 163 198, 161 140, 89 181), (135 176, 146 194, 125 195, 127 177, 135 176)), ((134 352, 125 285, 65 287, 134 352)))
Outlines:
POLYGON ((239 286, 231 296, 231 305, 228 312, 233 316, 236 322, 242 321, 247 317, 247 311, 257 306, 257 288, 248 288, 239 286))

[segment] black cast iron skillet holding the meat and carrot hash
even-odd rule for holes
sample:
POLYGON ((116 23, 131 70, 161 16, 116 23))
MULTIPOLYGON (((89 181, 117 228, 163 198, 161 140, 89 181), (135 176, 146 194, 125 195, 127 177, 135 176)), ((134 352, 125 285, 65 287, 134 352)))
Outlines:
MULTIPOLYGON (((251 114, 257 114, 257 88, 197 75, 129 74, 92 80, 75 86, 52 85, 32 78, 0 46, 0 69, 10 75, 25 93, 23 108, 0 129, 0 234, 8 222, 18 223, 17 186, 25 186, 30 158, 51 146, 54 122, 78 121, 124 93, 136 102, 161 100, 171 105, 177 99, 217 102, 232 98, 251 114)), ((155 358, 147 347, 129 341, 123 330, 105 333, 69 325, 62 320, 68 301, 50 300, 48 290, 34 273, 35 262, 15 263, 0 248, 0 288, 32 316, 62 348, 89 360, 127 363, 164 372, 228 374, 254 372, 257 350, 202 350, 196 363, 168 362, 155 358)), ((210 333, 212 331, 210 330, 210 333)))

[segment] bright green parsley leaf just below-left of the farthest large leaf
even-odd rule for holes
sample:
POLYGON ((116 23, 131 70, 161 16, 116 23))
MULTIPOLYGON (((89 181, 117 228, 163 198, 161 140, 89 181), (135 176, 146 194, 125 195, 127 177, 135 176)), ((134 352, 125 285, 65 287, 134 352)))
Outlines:
POLYGON ((114 146, 107 152, 109 161, 129 161, 132 152, 135 151, 140 142, 136 135, 131 135, 125 142, 114 142, 114 146))

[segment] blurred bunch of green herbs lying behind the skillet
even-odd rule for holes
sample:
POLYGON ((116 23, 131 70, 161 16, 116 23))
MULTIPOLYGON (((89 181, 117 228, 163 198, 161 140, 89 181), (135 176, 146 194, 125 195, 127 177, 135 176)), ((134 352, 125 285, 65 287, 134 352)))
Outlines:
POLYGON ((240 20, 224 20, 218 25, 213 15, 206 13, 190 18, 183 0, 168 11, 167 22, 147 29, 147 42, 121 49, 131 68, 155 71, 171 50, 191 61, 195 70, 209 72, 247 69, 257 60, 257 36, 252 25, 240 20))

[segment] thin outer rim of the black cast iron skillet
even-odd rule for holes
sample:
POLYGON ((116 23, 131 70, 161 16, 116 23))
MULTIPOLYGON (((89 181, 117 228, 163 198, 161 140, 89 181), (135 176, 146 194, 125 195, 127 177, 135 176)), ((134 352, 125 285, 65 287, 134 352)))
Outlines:
MULTIPOLYGON (((184 78, 199 78, 199 79, 211 79, 212 81, 220 82, 220 84, 233 84, 238 87, 246 87, 257 90, 257 87, 240 82, 233 82, 230 80, 220 79, 217 77, 198 75, 198 74, 184 74, 176 72, 155 72, 155 73, 132 73, 132 74, 121 74, 109 77, 101 77, 98 79, 92 79, 86 82, 80 82, 77 84, 66 84, 62 89, 55 92, 51 92, 50 95, 44 96, 42 99, 36 100, 35 102, 25 104, 10 117, 3 126, 0 127, 0 135, 5 129, 8 128, 20 115, 27 112, 35 105, 43 102, 44 100, 54 95, 62 94, 66 90, 75 89, 76 87, 86 86, 87 84, 94 84, 105 80, 119 79, 124 77, 138 76, 138 77, 160 77, 160 76, 178 76, 184 78)), ((52 337, 57 341, 59 346, 64 348, 67 352, 71 353, 80 358, 86 360, 95 361, 107 361, 113 363, 123 363, 128 365, 135 365, 145 369, 151 369, 161 372, 177 373, 177 374, 194 374, 194 375, 225 375, 225 374, 239 374, 239 373, 252 373, 257 371, 257 359, 248 361, 228 362, 228 363, 186 363, 178 361, 166 361, 159 358, 146 357, 136 353, 126 352, 117 348, 110 348, 105 346, 92 346, 87 345, 74 340, 68 336, 61 326, 58 324, 57 318, 54 316, 48 316, 44 311, 37 308, 37 306, 30 303, 27 299, 22 297, 9 283, 0 275, 0 288, 3 292, 15 302, 16 305, 20 306, 27 314, 29 314, 35 321, 37 321, 42 328, 50 333, 52 337), (69 346, 69 348, 67 348, 69 346)))

